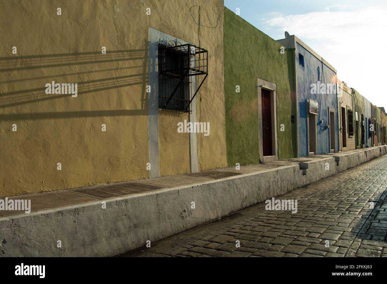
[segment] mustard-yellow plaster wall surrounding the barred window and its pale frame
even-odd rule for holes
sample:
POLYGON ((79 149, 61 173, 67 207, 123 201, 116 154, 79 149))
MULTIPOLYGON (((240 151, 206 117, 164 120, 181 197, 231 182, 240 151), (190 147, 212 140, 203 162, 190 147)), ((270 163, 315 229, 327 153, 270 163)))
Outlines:
MULTIPOLYGON (((1 1, 0 196, 149 177, 149 27, 208 49, 197 119, 211 132, 198 134, 199 170, 226 166, 223 9, 221 0, 1 1), (46 95, 51 81, 78 83, 78 96, 46 95)), ((190 171, 189 136, 177 133, 186 117, 159 112, 161 175, 190 171)))

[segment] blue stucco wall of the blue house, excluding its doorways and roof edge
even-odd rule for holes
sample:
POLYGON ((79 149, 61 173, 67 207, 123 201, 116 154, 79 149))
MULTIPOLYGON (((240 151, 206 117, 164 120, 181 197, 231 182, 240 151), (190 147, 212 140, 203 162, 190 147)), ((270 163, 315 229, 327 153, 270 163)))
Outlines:
MULTIPOLYGON (((317 67, 320 67, 320 83, 336 84, 336 73, 327 65, 322 64, 321 60, 317 59, 312 53, 308 52, 299 43, 296 44, 296 74, 298 86, 298 124, 299 124, 299 153, 300 157, 308 155, 308 125, 307 125, 307 99, 312 99, 319 102, 319 114, 317 115, 317 154, 326 154, 330 152, 330 136, 329 129, 322 127, 323 124, 329 123, 329 108, 335 112, 336 135, 334 149, 338 151, 338 123, 337 123, 337 90, 335 94, 312 94, 310 85, 317 83, 319 73, 317 67), (304 67, 299 61, 299 53, 304 56, 304 67)), ((336 89, 336 85, 335 85, 336 89)))

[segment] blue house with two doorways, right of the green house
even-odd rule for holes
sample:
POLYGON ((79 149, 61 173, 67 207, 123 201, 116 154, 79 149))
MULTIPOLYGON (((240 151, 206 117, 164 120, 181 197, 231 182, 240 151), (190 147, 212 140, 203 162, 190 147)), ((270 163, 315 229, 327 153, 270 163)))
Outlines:
POLYGON ((338 151, 336 69, 294 35, 278 42, 293 53, 298 157, 338 151))

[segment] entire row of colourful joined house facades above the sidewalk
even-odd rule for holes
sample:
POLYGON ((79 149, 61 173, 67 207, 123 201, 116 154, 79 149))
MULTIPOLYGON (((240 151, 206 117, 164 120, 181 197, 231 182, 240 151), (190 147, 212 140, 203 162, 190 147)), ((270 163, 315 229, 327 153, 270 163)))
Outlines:
POLYGON ((344 83, 337 96, 328 62, 296 36, 273 40, 222 0, 60 8, 0 9, 10 43, 0 45, 0 197, 386 143, 386 115, 344 83), (167 65, 180 52, 196 72, 181 80, 167 65), (77 95, 47 93, 51 83, 77 84, 77 95), (195 122, 207 133, 178 130, 195 122))

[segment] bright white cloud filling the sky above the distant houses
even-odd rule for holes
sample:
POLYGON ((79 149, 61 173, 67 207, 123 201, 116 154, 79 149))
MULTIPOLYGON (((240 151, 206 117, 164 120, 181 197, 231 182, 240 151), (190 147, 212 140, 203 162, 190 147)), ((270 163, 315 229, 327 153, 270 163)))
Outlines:
POLYGON ((271 28, 288 31, 337 69, 340 80, 378 106, 387 107, 387 9, 322 11, 301 15, 272 14, 271 28))

